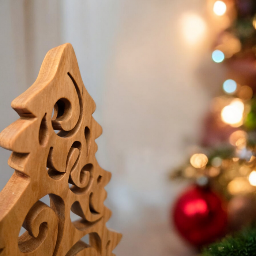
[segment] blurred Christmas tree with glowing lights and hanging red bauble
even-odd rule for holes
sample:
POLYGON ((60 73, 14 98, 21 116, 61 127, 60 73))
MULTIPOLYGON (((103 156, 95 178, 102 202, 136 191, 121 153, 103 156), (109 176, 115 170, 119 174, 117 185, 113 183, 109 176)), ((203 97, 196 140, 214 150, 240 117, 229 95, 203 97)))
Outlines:
MULTIPOLYGON (((223 94, 212 100, 199 147, 170 173, 172 180, 193 184, 177 200, 172 218, 180 234, 196 246, 256 222, 256 1, 211 1, 211 12, 225 24, 212 60, 225 65, 227 79, 223 94)), ((219 246, 227 252, 232 242, 255 241, 255 236, 255 230, 248 231, 219 246)))

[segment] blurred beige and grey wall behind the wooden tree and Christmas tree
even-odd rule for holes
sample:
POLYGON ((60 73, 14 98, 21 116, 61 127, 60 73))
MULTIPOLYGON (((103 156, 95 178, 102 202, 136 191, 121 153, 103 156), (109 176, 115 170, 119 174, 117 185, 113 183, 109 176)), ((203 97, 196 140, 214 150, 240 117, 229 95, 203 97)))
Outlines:
MULTIPOLYGON (((235 1, 215 2, 0 0, 0 130, 18 118, 11 101, 33 84, 48 50, 70 42, 103 128, 96 157, 112 172, 105 204, 113 211, 108 226, 123 233, 116 255, 197 255, 171 210, 192 176, 170 181, 169 173, 227 137, 209 132, 207 120, 231 78, 217 46, 235 1)), ((228 57, 239 52, 234 44, 228 57)), ((0 148, 0 189, 13 173, 10 154, 0 148)))

